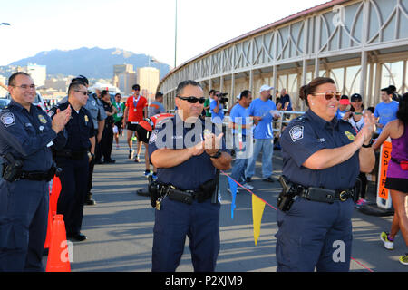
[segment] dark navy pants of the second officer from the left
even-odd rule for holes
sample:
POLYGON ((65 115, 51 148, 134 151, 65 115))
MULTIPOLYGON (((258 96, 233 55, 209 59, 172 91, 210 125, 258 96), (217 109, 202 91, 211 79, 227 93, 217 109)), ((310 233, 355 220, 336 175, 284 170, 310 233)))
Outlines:
POLYGON ((63 169, 57 213, 63 215, 67 234, 78 234, 83 224, 83 205, 88 186, 88 156, 81 160, 57 158, 56 163, 63 169))

